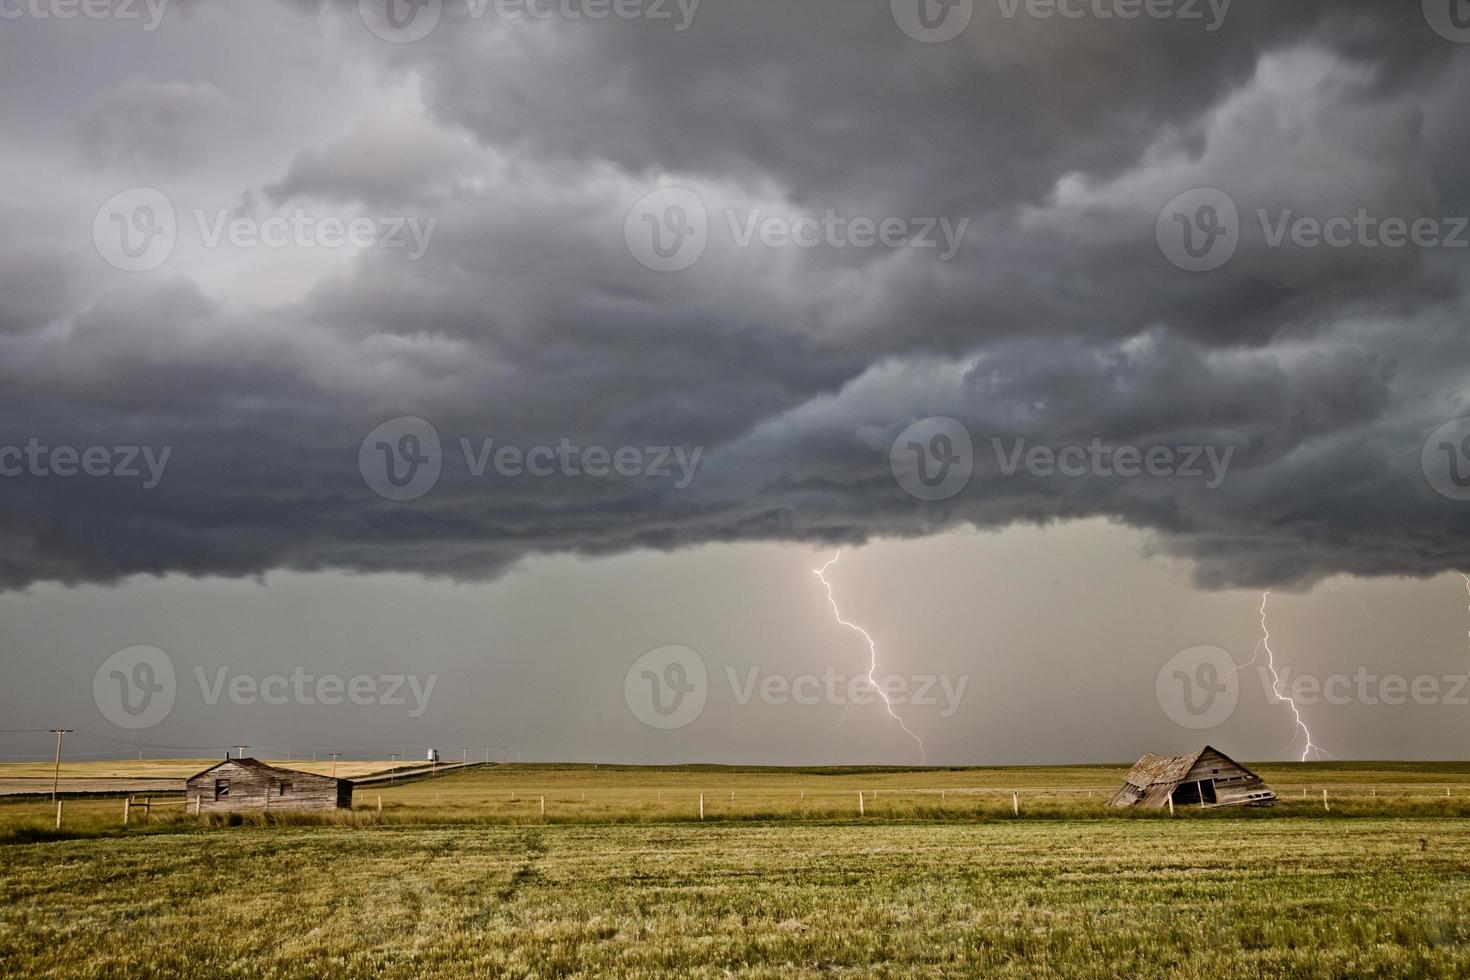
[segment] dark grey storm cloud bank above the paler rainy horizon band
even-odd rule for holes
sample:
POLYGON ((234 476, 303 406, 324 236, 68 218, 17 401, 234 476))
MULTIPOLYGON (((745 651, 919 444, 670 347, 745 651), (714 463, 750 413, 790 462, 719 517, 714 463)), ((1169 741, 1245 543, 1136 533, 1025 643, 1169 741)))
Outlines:
MULTIPOLYGON (((110 59, 65 112, 91 170, 122 182, 32 173, 31 207, 84 234, 0 237, 0 442, 172 450, 151 489, 6 478, 7 586, 276 567, 484 577, 544 551, 1097 516, 1157 532, 1213 586, 1470 566, 1470 504, 1420 466, 1429 433, 1470 414, 1464 253, 1279 248, 1255 222, 1413 220, 1470 200, 1467 48, 1419 4, 1238 0, 1210 32, 1007 19, 982 1, 941 46, 906 37, 886 3, 706 0, 675 32, 470 21, 450 1, 416 44, 375 38, 356 3, 222 10, 109 38, 146 50, 147 76, 110 59), (294 47, 200 57, 235 34, 294 47), (310 93, 315 51, 375 87, 293 115, 263 73, 310 93), (257 122, 225 134, 220 113, 257 122), (187 203, 244 200, 235 213, 432 217, 434 238, 422 260, 365 250, 279 297, 294 270, 248 253, 181 248, 126 278, 100 264, 96 207, 181 170, 181 234, 187 203), (684 272, 645 270, 623 238, 660 184, 709 207, 709 250, 684 272), (1198 187, 1242 216, 1236 256, 1210 273, 1155 239, 1164 204, 1198 187), (738 247, 726 216, 829 209, 969 225, 941 262, 738 247), (251 276, 275 298, 223 295, 251 276), (444 444, 438 485, 409 502, 359 472, 363 438, 398 416, 444 444), (929 416, 975 438, 975 479, 942 502, 907 495, 888 463, 929 416), (476 478, 460 439, 488 438, 703 457, 686 488, 476 478), (1208 445, 1232 464, 1214 488, 1005 475, 992 439, 1208 445)), ((65 56, 65 32, 41 41, 65 56)), ((44 140, 28 151, 46 157, 44 140)))

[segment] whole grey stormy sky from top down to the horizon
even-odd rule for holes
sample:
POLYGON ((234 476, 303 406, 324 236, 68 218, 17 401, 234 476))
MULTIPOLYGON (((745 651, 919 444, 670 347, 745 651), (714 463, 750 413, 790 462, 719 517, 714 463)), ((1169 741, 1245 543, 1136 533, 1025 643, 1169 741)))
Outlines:
MULTIPOLYGON (((811 576, 839 547, 832 580, 883 670, 969 677, 948 717, 906 714, 929 761, 1201 741, 1294 758, 1254 667, 1205 735, 1155 698, 1179 651, 1251 660, 1267 589, 1298 673, 1470 670, 1470 502, 1421 461, 1470 416, 1470 248, 1272 247, 1255 219, 1470 215, 1470 44, 1433 29, 1433 3, 1366 0, 1236 0, 1217 29, 975 0, 926 44, 898 28, 906 1, 704 0, 679 31, 672 3, 591 21, 444 0, 404 44, 345 0, 173 0, 156 29, 146 4, 140 22, 0 3, 0 447, 171 451, 156 488, 0 478, 0 727, 916 761, 881 708, 731 692, 726 669, 866 671, 811 576), (709 209, 704 256, 673 273, 625 238, 664 187, 709 209), (132 188, 178 216, 147 272, 94 242, 132 188), (1155 237, 1194 188, 1241 213, 1208 273, 1155 237), (941 262, 739 247, 726 219, 829 210, 967 231, 941 262), (297 212, 435 225, 413 260, 210 247, 196 220, 297 212), (359 447, 404 416, 442 436, 444 473, 390 501, 359 447), (976 447, 969 486, 933 502, 889 469, 928 417, 976 447), (684 488, 473 478, 460 438, 703 455, 684 488), (1233 455, 1216 488, 1007 476, 992 438, 1233 455), (134 645, 178 670, 176 707, 140 732, 93 695, 134 645), (710 671, 678 732, 623 698, 663 645, 710 671), (222 667, 438 682, 417 717, 210 707, 197 676, 222 667)), ((1464 705, 1305 717, 1339 757, 1467 752, 1464 705)), ((0 735, 0 754, 40 748, 0 735)))

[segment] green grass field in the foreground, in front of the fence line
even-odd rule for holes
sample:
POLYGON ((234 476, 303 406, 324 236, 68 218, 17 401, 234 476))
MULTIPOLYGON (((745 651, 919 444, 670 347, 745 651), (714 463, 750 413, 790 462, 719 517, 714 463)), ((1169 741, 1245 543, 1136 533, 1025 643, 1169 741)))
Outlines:
POLYGON ((1444 818, 237 827, 0 848, 6 976, 1455 977, 1444 818))

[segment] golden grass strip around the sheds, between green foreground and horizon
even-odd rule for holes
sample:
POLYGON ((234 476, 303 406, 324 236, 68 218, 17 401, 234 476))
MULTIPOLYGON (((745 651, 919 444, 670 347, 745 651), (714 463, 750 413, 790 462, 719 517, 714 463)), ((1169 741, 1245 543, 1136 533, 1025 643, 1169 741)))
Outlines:
MULTIPOLYGON (((171 764, 182 765, 182 764, 171 764)), ((190 763, 197 771, 198 763, 190 763)), ((329 770, 329 763, 326 764, 329 770)), ((357 763, 357 767, 373 765, 357 763)), ((316 764, 316 771, 322 764, 316 764)), ((417 764, 413 767, 419 768, 417 764)), ((128 790, 122 779, 81 774, 90 792, 128 790)), ((341 764, 340 771, 347 771, 341 764)), ((720 820, 1011 820, 1011 818, 1169 818, 1167 811, 1114 810, 1107 805, 1125 767, 1057 768, 631 768, 592 765, 442 767, 438 776, 362 782, 354 811, 335 814, 359 823, 682 823, 720 820), (379 811, 381 805, 381 811, 379 811)), ((1263 765, 1260 774, 1280 795, 1251 820, 1283 817, 1470 817, 1470 767, 1451 763, 1333 763, 1263 765), (1326 792, 1326 799, 1323 793, 1326 792), (1327 810, 1330 808, 1330 810, 1327 810)), ((3 774, 0 774, 3 779, 3 774)), ((32 793, 50 782, 28 780, 32 793)), ((154 796, 160 792, 150 789, 154 796)), ((182 782, 172 793, 182 792, 182 782)), ((137 795, 146 795, 137 790, 137 795)), ((1180 808, 1176 818, 1230 817, 1226 811, 1180 808)), ((1236 811, 1235 817, 1241 817, 1236 811)), ((138 814, 129 830, 168 830, 185 814, 138 814)), ((54 827, 47 798, 0 801, 0 835, 54 827)), ((257 820, 245 817, 245 820, 257 820)), ((278 815, 272 820, 287 821, 278 815)), ((121 799, 75 798, 66 802, 65 829, 74 835, 118 833, 121 799)), ((0 842, 4 837, 0 836, 0 842)))

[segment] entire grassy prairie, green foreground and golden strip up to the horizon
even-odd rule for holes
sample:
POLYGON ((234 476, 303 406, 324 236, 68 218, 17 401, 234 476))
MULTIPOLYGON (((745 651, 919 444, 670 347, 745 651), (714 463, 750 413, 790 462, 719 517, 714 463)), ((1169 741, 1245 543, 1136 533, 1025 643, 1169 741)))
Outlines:
POLYGON ((56 840, 6 802, 0 974, 1470 974, 1470 767, 1258 771, 1282 805, 1173 820, 1119 767, 509 765, 56 840))

